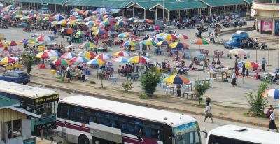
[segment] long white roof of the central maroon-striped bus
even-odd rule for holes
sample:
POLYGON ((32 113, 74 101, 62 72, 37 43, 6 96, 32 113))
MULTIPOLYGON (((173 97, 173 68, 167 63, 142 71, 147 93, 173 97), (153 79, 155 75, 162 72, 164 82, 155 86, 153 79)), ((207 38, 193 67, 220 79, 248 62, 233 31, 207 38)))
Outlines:
POLYGON ((95 110, 102 110, 109 113, 116 113, 118 115, 127 115, 153 122, 160 122, 163 124, 168 124, 172 127, 188 124, 190 122, 197 122, 197 120, 190 115, 182 115, 181 113, 158 110, 155 108, 146 108, 144 106, 136 106, 118 101, 99 99, 92 96, 69 96, 60 99, 59 102, 69 103, 74 106, 83 106, 95 110))

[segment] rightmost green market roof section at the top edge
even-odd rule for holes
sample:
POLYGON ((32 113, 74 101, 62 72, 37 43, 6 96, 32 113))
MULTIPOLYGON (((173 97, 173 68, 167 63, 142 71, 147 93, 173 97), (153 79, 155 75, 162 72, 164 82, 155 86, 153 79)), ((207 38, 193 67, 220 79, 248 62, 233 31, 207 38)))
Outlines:
POLYGON ((244 0, 202 0, 202 2, 211 7, 245 4, 244 0))

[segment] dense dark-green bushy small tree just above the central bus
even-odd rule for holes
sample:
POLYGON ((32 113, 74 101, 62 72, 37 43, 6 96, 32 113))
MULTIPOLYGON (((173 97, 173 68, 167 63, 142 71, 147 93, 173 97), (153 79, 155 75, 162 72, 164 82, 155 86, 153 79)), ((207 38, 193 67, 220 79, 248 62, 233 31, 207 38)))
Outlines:
POLYGON ((141 78, 141 85, 147 96, 152 97, 158 83, 160 82, 160 73, 149 71, 141 78))

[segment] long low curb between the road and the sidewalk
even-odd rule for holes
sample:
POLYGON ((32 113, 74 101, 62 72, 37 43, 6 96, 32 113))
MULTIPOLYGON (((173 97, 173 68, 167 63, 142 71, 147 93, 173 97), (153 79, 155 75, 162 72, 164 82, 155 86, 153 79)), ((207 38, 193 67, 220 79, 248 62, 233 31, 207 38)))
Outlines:
MULTIPOLYGON (((68 91, 68 92, 75 92, 78 94, 83 94, 83 95, 87 95, 87 96, 94 96, 97 98, 101 98, 101 99, 109 99, 109 100, 113 100, 113 101, 120 101, 123 103, 130 103, 130 104, 135 104, 138 106, 146 106, 149 108, 158 108, 158 109, 167 109, 167 110, 176 110, 179 111, 181 113, 190 113, 190 114, 194 114, 194 115, 205 115, 205 113, 201 113, 198 111, 191 111, 191 110, 186 110, 186 109, 182 109, 182 108, 178 108, 178 107, 172 107, 172 106, 161 106, 159 103, 153 103, 153 101, 147 101, 147 102, 140 102, 140 101, 134 101, 134 100, 130 100, 130 99, 122 99, 122 98, 118 98, 118 97, 113 97, 113 96, 109 96, 106 94, 94 94, 92 92, 85 92, 85 91, 80 91, 78 89, 68 89, 66 87, 61 87, 61 86, 55 86, 55 85, 49 85, 49 84, 45 84, 45 83, 41 83, 41 82, 36 82, 36 81, 31 81, 30 83, 35 84, 35 85, 44 85, 45 87, 48 88, 55 88, 55 89, 59 89, 59 90, 63 90, 63 91, 68 91)), ((235 119, 233 117, 226 117, 223 115, 213 115, 212 117, 217 118, 217 119, 221 119, 221 120, 228 120, 231 122, 239 122, 242 124, 251 124, 254 126, 258 126, 258 127, 268 127, 269 124, 263 124, 263 123, 259 123, 259 122, 251 122, 251 121, 246 121, 246 120, 240 120, 240 119, 235 119)))

